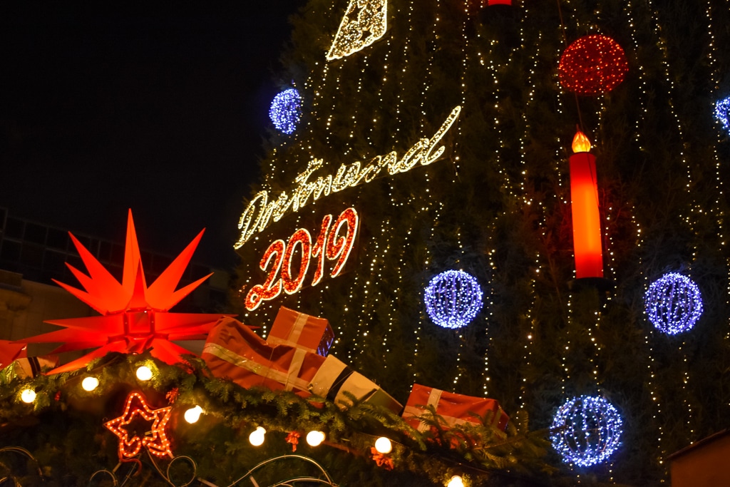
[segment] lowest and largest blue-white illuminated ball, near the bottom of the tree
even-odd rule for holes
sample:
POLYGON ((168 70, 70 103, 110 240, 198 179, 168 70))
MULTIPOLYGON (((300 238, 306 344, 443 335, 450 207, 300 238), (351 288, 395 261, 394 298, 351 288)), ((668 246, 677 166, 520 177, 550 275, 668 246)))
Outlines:
POLYGON ((613 405, 598 396, 569 399, 553 418, 550 441, 563 461, 591 467, 618 448, 623 420, 613 405))

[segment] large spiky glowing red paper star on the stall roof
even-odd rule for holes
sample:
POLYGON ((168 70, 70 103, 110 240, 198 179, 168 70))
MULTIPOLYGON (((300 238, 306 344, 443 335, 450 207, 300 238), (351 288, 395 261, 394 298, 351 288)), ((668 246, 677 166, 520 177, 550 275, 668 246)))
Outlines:
MULTIPOLYGON (((203 230, 204 231, 204 230, 203 230)), ((155 358, 166 364, 182 362, 189 350, 174 340, 202 340, 222 315, 171 313, 171 307, 191 293, 210 274, 175 291, 201 237, 201 231, 167 269, 147 287, 142 258, 129 210, 122 282, 119 283, 99 261, 73 236, 71 238, 88 275, 66 264, 85 291, 55 281, 62 288, 98 311, 101 316, 47 321, 64 329, 23 340, 26 343, 64 343, 53 353, 96 348, 77 360, 50 373, 69 372, 84 367, 93 358, 110 352, 140 353, 151 349, 155 358)))

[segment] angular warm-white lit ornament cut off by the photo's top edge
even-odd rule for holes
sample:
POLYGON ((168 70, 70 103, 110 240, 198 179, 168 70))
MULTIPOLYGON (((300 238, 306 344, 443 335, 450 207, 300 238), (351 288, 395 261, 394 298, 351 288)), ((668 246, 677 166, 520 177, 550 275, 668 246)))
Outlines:
POLYGON ((372 45, 385 34, 387 20, 388 1, 350 0, 327 53, 327 61, 344 58, 372 45))

